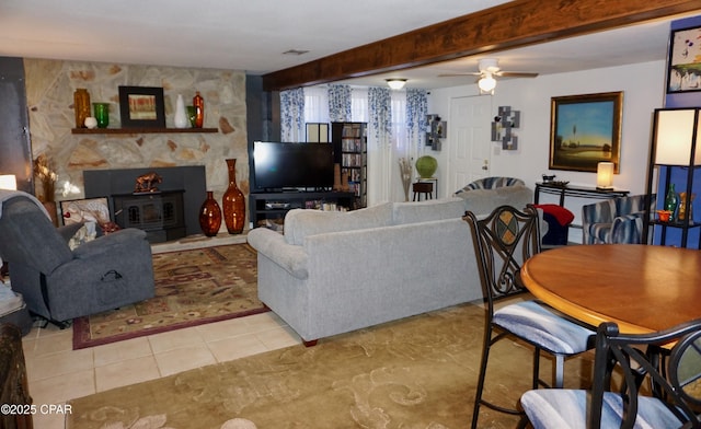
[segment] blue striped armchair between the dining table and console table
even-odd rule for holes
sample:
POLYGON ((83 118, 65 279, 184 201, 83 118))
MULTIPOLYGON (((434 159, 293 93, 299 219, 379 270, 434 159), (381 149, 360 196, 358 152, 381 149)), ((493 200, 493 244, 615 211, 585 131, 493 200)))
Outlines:
MULTIPOLYGON (((584 244, 641 244, 645 197, 645 195, 634 195, 583 206, 584 244)), ((654 207, 654 195, 650 204, 654 207)))

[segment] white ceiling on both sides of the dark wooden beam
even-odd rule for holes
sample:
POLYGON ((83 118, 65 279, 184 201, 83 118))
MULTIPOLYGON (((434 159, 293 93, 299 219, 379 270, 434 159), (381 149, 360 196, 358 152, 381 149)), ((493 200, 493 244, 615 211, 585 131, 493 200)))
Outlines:
MULTIPOLYGON (((490 8, 504 0, 0 0, 0 56, 245 70, 264 74, 490 8), (309 50, 284 55, 290 49, 309 50)), ((489 57, 541 74, 662 60, 669 21, 489 57)), ((479 57, 346 81, 445 88, 479 57)))

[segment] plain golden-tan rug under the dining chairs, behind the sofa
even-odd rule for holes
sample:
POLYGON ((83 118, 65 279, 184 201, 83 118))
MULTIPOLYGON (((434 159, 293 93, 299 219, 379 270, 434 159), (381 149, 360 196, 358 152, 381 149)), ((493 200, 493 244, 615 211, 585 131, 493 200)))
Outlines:
MULTIPOLYGON (((70 401, 68 429, 466 428, 476 385, 484 310, 464 304, 70 401), (248 425, 246 425, 248 424, 248 425)), ((492 349, 485 397, 517 404, 531 348, 492 349)), ((542 359, 544 371, 552 362, 542 359)), ((590 360, 566 366, 578 386, 590 360)), ((550 380, 550 379, 548 379, 550 380)), ((483 408, 481 428, 518 417, 483 408)))

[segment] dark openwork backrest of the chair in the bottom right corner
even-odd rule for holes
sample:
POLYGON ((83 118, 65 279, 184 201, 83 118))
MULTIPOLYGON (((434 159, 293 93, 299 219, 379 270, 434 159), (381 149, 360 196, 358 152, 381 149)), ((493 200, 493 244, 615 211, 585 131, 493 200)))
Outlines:
POLYGON ((612 390, 614 368, 623 375, 620 393, 624 405, 613 410, 623 416, 621 428, 632 428, 639 406, 645 406, 639 402, 641 391, 645 396, 663 398, 659 405, 679 419, 679 427, 683 424, 685 428, 701 428, 696 414, 701 406, 701 320, 658 333, 630 335, 620 334, 616 323, 602 323, 597 331, 587 427, 598 428, 606 419, 602 418, 604 395, 612 390), (671 344, 669 351, 665 346, 671 344))

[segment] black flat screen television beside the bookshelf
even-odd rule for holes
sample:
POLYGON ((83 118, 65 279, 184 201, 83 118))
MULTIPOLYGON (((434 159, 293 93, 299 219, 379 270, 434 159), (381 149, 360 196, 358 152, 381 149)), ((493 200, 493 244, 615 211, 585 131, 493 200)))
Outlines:
POLYGON ((333 187, 333 144, 253 142, 256 192, 333 187))

